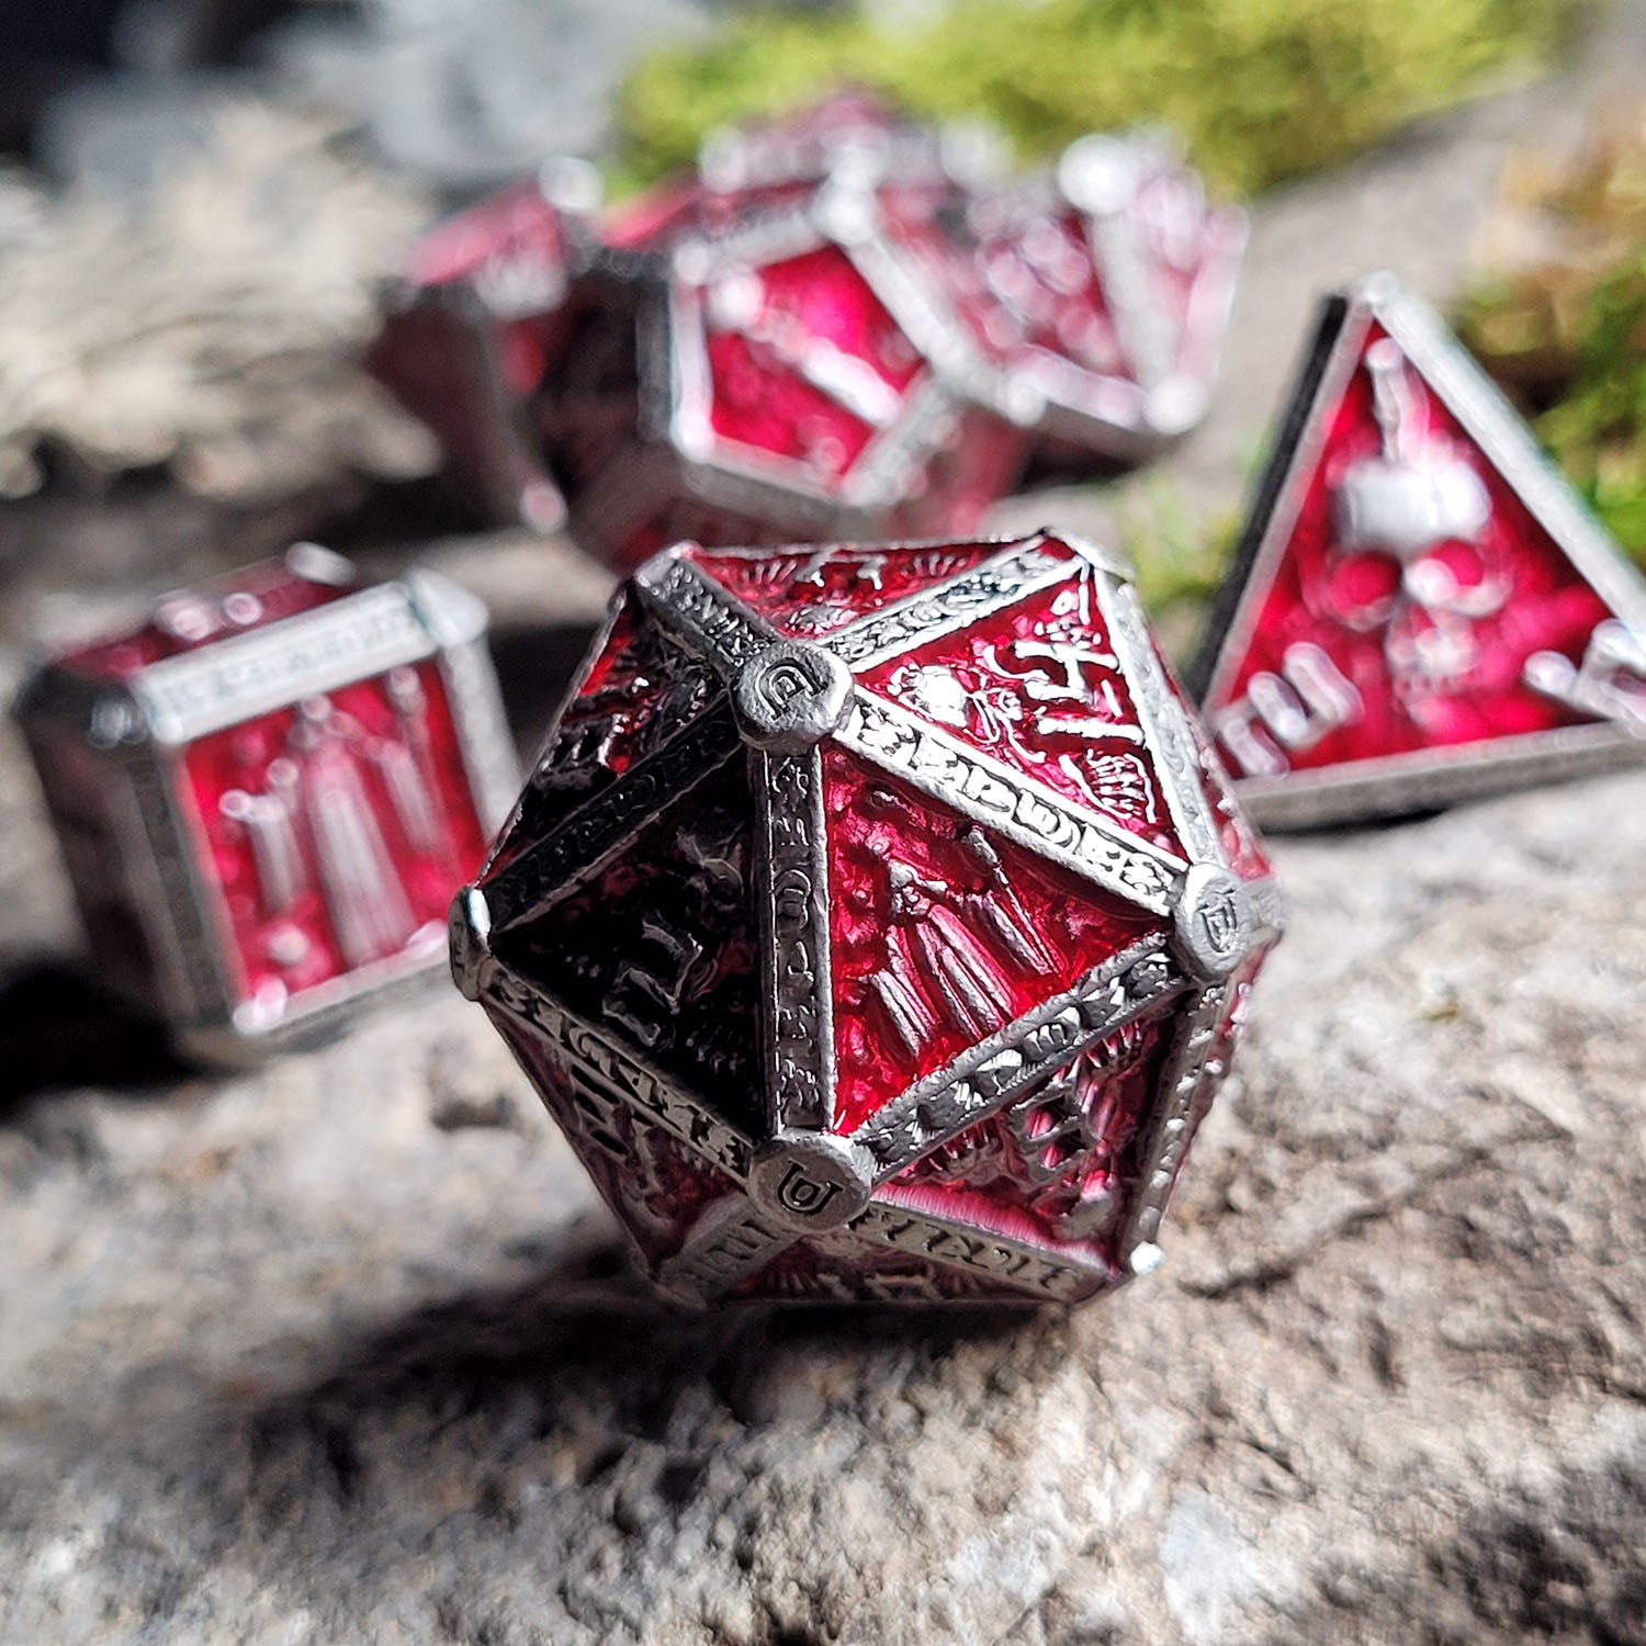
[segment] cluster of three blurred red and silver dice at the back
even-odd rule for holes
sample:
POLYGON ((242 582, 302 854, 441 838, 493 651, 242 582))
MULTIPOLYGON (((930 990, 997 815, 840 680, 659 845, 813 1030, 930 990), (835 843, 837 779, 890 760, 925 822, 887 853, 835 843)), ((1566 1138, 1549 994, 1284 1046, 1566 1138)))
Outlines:
POLYGON ((499 518, 619 570, 691 537, 955 535, 1030 448, 1198 421, 1244 244, 1155 133, 1001 181, 846 94, 604 214, 566 168, 436 230, 374 351, 499 518), (453 255, 453 249, 461 255, 453 255))

